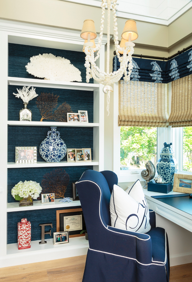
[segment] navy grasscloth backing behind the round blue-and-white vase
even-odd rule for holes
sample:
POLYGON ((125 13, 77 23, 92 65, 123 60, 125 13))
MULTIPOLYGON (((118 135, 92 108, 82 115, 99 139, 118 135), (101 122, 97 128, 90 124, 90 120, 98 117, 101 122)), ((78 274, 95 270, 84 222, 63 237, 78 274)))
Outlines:
MULTIPOLYGON (((17 146, 37 146, 37 161, 44 161, 39 154, 39 146, 49 130, 50 126, 8 125, 8 162, 15 162, 17 146)), ((93 127, 58 126, 57 131, 68 149, 91 148, 93 152, 93 127)), ((92 159, 93 157, 92 153, 92 159)), ((67 160, 67 155, 63 160, 67 160)))

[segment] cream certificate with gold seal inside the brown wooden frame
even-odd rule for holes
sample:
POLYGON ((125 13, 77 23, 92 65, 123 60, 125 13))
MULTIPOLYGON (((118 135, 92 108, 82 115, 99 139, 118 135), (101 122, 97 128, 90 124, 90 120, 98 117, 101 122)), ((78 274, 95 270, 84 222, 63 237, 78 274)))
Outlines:
POLYGON ((82 230, 82 215, 64 216, 64 231, 82 230))

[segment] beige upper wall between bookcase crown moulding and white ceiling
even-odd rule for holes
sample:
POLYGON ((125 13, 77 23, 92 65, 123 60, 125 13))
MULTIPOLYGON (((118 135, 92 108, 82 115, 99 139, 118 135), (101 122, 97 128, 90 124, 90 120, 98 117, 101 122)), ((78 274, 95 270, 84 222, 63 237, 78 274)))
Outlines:
MULTIPOLYGON (((1 0, 0 6, 0 18, 2 19, 76 30, 81 30, 83 20, 90 17, 95 21, 96 31, 99 32, 101 8, 59 0, 1 0)), ((120 35, 125 21, 126 19, 124 18, 118 18, 118 30, 120 35)), ((136 43, 154 47, 168 47, 167 26, 137 21, 137 28, 139 37, 136 43)), ((175 27, 172 27, 172 29, 174 28, 175 27)), ((104 33, 106 33, 106 31, 105 25, 104 33)), ((111 34, 113 34, 112 21, 111 34)), ((172 38, 171 42, 173 41, 174 38, 172 38)))

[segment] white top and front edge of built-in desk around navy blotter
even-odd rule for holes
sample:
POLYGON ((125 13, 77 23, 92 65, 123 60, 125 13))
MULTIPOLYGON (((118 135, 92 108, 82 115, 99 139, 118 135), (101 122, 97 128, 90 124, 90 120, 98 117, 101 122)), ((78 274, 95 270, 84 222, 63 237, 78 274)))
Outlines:
MULTIPOLYGON (((182 208, 183 210, 180 210, 179 205, 178 208, 176 208, 175 206, 177 205, 174 206, 173 204, 170 206, 169 204, 167 204, 168 203, 167 200, 159 201, 158 199, 152 198, 152 196, 157 196, 157 195, 170 195, 170 194, 181 194, 181 193, 172 191, 168 194, 163 194, 157 192, 150 192, 147 191, 147 189, 143 189, 143 192, 145 194, 145 198, 147 200, 147 204, 150 209, 154 210, 155 213, 158 213, 159 215, 169 219, 170 221, 192 232, 192 215, 190 214, 191 210, 188 211, 185 208, 182 208)), ((192 199, 190 200, 191 200, 191 209, 192 209, 192 199)))

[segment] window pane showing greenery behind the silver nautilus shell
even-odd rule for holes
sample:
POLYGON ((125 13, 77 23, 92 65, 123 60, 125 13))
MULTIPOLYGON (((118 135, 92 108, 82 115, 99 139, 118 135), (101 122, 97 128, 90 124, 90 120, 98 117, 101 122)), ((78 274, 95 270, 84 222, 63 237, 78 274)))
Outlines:
POLYGON ((157 127, 121 126, 120 170, 145 169, 148 160, 156 167, 157 127))

